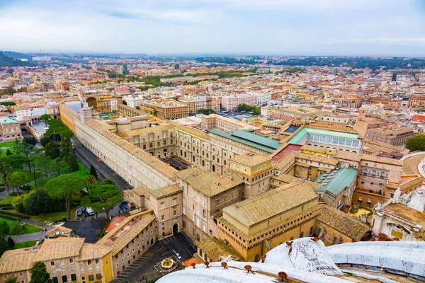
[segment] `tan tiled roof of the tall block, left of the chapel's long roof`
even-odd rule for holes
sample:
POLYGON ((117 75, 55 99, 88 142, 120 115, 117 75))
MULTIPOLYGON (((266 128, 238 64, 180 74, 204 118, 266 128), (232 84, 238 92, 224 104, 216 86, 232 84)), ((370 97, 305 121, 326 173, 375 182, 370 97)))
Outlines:
POLYGON ((176 176, 208 197, 218 195, 220 192, 244 183, 234 173, 220 176, 203 167, 193 167, 179 171, 176 173, 176 176))

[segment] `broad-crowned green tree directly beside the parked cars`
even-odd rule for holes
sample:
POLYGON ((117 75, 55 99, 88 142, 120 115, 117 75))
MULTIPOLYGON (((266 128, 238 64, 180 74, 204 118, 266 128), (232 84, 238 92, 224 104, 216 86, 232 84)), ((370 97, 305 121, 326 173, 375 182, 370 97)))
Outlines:
POLYGON ((89 191, 89 195, 81 200, 85 207, 92 207, 96 210, 106 212, 106 218, 109 218, 109 212, 115 205, 123 201, 123 193, 114 185, 97 185, 89 191), (94 202, 94 201, 98 202, 94 202))

